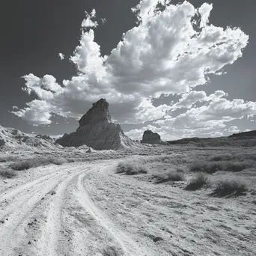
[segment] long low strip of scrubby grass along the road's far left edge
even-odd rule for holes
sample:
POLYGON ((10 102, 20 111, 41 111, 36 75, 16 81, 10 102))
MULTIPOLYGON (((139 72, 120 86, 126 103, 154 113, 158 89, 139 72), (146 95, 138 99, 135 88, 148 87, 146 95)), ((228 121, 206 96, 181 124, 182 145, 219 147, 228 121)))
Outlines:
POLYGON ((48 158, 33 158, 33 159, 25 159, 20 162, 13 162, 9 165, 9 167, 14 171, 23 171, 28 170, 29 168, 34 168, 43 165, 63 165, 67 162, 64 157, 48 157, 48 158))

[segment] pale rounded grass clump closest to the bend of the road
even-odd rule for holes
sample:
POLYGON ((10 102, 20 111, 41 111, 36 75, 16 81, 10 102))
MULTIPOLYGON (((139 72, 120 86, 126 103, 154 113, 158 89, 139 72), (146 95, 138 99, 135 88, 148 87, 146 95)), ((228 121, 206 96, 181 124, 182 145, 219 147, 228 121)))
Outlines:
POLYGON ((146 174, 147 169, 139 159, 127 159, 118 163, 116 173, 127 175, 146 174))

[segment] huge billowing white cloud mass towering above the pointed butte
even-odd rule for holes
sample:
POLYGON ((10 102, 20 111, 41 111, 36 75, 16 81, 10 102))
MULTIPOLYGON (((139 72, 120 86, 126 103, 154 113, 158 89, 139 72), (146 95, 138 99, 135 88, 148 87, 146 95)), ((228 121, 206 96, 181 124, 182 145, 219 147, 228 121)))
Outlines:
POLYGON ((254 115, 255 103, 228 101, 223 91, 209 97, 204 91, 193 91, 209 82, 208 74, 220 75, 225 65, 240 58, 249 40, 240 28, 209 25, 212 8, 206 3, 196 9, 187 1, 174 5, 168 0, 141 0, 132 9, 138 24, 106 56, 94 40, 96 10, 85 12, 79 45, 70 56, 77 74, 61 84, 50 75, 23 76, 23 90, 33 92, 37 100, 13 113, 30 124, 50 124, 52 113, 79 118, 91 103, 104 97, 112 117, 121 123, 162 118, 163 127, 184 123, 190 129, 217 123, 222 127, 232 118, 254 115), (153 106, 152 98, 161 94, 181 98, 175 104, 153 106), (198 102, 207 105, 195 108, 198 102), (181 108, 188 110, 171 118, 171 112, 181 108))

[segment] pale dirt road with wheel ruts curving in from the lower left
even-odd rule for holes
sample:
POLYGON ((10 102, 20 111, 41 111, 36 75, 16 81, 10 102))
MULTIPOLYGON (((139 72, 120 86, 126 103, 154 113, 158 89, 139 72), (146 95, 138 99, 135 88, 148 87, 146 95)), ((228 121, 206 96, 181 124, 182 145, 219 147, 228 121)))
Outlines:
POLYGON ((1 192, 0 255, 147 255, 88 196, 84 180, 108 165, 58 171, 50 165, 40 177, 1 192))

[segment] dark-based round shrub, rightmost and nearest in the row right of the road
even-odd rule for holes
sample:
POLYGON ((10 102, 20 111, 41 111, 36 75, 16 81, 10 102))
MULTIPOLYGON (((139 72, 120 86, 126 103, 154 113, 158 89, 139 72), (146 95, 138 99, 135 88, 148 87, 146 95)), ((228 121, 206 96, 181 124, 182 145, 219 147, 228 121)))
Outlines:
POLYGON ((225 180, 220 180, 217 183, 215 193, 216 195, 225 196, 225 195, 240 195, 243 192, 248 190, 247 186, 243 181, 237 180, 235 178, 229 178, 225 180))

